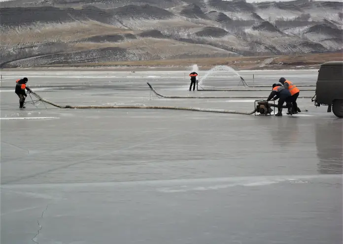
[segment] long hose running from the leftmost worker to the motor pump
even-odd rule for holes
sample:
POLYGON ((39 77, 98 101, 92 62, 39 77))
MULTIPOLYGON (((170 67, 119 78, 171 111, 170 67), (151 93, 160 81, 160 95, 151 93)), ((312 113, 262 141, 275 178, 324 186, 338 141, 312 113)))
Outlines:
POLYGON ((114 105, 107 105, 107 106, 98 106, 98 105, 85 105, 85 106, 70 106, 70 105, 60 105, 49 100, 46 100, 39 96, 37 93, 31 90, 31 93, 34 94, 40 101, 50 104, 52 106, 58 108, 76 108, 76 109, 95 109, 95 108, 103 108, 103 109, 168 109, 168 110, 188 110, 188 111, 201 111, 201 112, 211 112, 211 113, 224 113, 224 114, 243 114, 243 115, 251 115, 255 113, 256 109, 251 112, 241 112, 236 110, 225 110, 225 109, 210 109, 210 108, 192 108, 192 107, 168 107, 168 106, 137 106, 137 105, 124 105, 124 106, 114 106, 114 105))

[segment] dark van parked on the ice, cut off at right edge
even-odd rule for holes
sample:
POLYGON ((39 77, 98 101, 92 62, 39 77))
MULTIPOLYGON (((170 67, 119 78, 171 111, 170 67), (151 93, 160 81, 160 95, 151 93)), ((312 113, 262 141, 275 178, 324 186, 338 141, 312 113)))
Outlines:
POLYGON ((326 105, 328 112, 343 118, 343 61, 330 61, 320 65, 316 84, 315 106, 326 105))

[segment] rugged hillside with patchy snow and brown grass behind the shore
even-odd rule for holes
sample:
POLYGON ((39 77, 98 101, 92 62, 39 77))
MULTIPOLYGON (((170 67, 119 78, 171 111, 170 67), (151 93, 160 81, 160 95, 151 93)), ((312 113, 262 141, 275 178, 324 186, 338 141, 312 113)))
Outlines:
POLYGON ((311 0, 12 0, 1 3, 0 57, 30 66, 332 52, 342 49, 342 9, 311 0))

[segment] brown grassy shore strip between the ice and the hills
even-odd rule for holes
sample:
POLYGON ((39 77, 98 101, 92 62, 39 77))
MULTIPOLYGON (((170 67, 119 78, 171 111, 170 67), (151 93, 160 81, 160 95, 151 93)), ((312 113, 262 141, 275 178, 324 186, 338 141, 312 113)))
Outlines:
POLYGON ((75 63, 41 65, 33 67, 1 68, 1 70, 189 70, 197 64, 200 70, 209 70, 217 65, 227 65, 235 70, 280 70, 280 69, 318 69, 327 61, 343 61, 343 52, 327 52, 318 54, 294 54, 279 56, 250 56, 228 58, 201 58, 177 60, 146 60, 146 61, 117 61, 103 63, 75 63))

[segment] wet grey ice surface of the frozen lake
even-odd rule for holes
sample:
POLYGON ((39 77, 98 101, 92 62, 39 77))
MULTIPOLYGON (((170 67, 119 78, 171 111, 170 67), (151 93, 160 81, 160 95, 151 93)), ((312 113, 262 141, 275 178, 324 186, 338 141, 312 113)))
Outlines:
MULTIPOLYGON (((166 95, 269 95, 190 92, 190 69, 4 71, 1 85, 13 90, 25 76, 70 105, 254 108, 252 99, 149 99, 146 82, 166 95)), ((318 72, 239 74, 315 84, 318 72)), ((239 84, 218 71, 204 86, 239 84)), ((1 93, 1 244, 342 243, 343 121, 309 98, 298 99, 308 112, 282 118, 18 105, 14 91, 1 93)))

